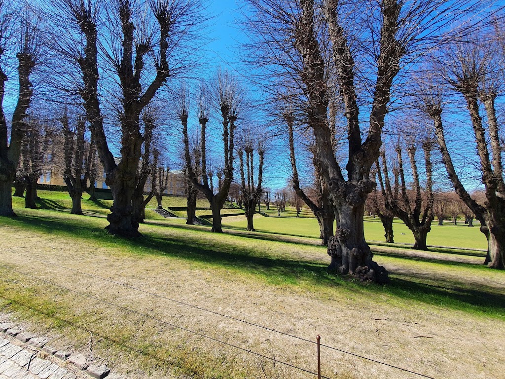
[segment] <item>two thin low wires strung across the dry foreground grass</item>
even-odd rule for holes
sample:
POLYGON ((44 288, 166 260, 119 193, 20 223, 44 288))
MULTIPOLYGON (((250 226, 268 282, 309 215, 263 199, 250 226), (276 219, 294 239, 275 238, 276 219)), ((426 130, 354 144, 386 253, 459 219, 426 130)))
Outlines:
MULTIPOLYGON (((189 308, 192 308, 192 309, 197 309, 199 311, 208 312, 208 313, 213 314, 213 315, 218 316, 218 317, 223 317, 223 318, 227 318, 227 319, 230 319, 230 320, 233 320, 233 321, 236 321, 236 322, 244 323, 244 324, 247 324, 247 325, 250 325, 250 326, 255 326, 255 327, 261 328, 263 330, 270 331, 270 332, 278 334, 278 335, 282 335, 282 336, 286 336, 286 337, 289 337, 289 338, 293 338, 293 339, 302 341, 304 343, 318 345, 318 342, 309 340, 309 339, 304 338, 304 337, 296 336, 294 334, 285 333, 285 332, 283 332, 281 330, 277 330, 277 329, 274 329, 274 328, 271 328, 271 327, 268 327, 268 326, 265 326, 265 325, 261 325, 261 324, 256 323, 256 322, 251 322, 251 321, 248 321, 248 320, 245 320, 245 319, 233 317, 233 316, 226 315, 224 313, 217 312, 217 311, 214 311, 214 310, 211 310, 211 309, 200 307, 200 306, 197 306, 197 305, 194 305, 194 304, 190 304, 190 303, 187 303, 187 302, 183 302, 183 301, 180 301, 180 300, 177 300, 177 299, 169 298, 169 297, 164 296, 164 295, 156 294, 156 293, 145 291, 145 290, 133 287, 133 286, 125 285, 124 283, 121 283, 121 282, 118 282, 118 281, 115 281, 115 280, 112 280, 112 279, 104 278, 104 277, 101 277, 101 276, 98 276, 98 275, 94 275, 94 274, 91 274, 89 272, 85 272, 85 271, 77 270, 77 269, 74 269, 74 268, 70 268, 70 267, 61 265, 59 263, 51 262, 51 261, 48 261, 48 260, 44 260, 44 259, 41 259, 41 258, 33 257, 31 255, 23 254, 23 253, 20 253, 18 251, 12 251, 12 250, 5 249, 5 248, 0 248, 0 250, 9 252, 11 254, 15 254, 17 256, 22 256, 22 257, 25 257, 25 258, 28 258, 28 259, 32 259, 32 260, 37 261, 37 262, 41 262, 41 263, 45 263, 45 264, 48 264, 48 265, 52 265, 54 267, 58 267, 58 268, 65 269, 65 270, 69 270, 71 272, 75 272, 75 273, 78 273, 78 274, 81 274, 81 275, 86 275, 86 276, 92 277, 93 279, 97 279, 97 280, 102 280, 102 281, 106 281, 106 282, 109 282, 109 283, 113 283, 114 285, 121 286, 121 287, 129 289, 129 290, 137 291, 137 292, 140 292, 140 293, 143 293, 143 294, 146 294, 146 295, 154 296, 156 298, 160 298, 160 299, 163 299, 163 300, 174 302, 174 303, 177 303, 179 305, 183 305, 183 306, 186 306, 186 307, 189 307, 189 308)), ((315 376, 320 375, 319 377, 324 378, 324 379, 331 379, 330 377, 321 375, 318 372, 311 371, 311 370, 306 369, 306 368, 298 367, 298 366, 296 366, 294 364, 291 364, 289 362, 278 360, 276 358, 272 358, 272 357, 266 356, 266 355, 261 354, 259 352, 252 351, 251 349, 247 349, 247 348, 244 348, 242 346, 238 346, 238 345, 229 343, 227 341, 223 341, 223 340, 214 338, 214 337, 209 336, 209 335, 207 335, 205 333, 201 333, 199 331, 195 331, 195 330, 192 330, 190 328, 187 328, 187 327, 184 327, 184 326, 180 326, 180 325, 174 324, 174 323, 166 321, 166 320, 162 320, 160 318, 157 318, 157 317, 154 317, 154 316, 151 316, 151 315, 148 315, 148 314, 145 314, 145 313, 142 313, 142 312, 139 312, 139 311, 136 311, 136 310, 124 307, 122 305, 118 305, 118 304, 115 304, 115 303, 112 303, 112 302, 109 302, 109 301, 97 298, 95 296, 92 296, 92 295, 89 295, 89 294, 85 294, 85 293, 73 290, 71 288, 62 286, 62 285, 60 285, 58 283, 55 283, 53 281, 49 281, 49 280, 46 280, 44 278, 38 277, 36 275, 33 275, 32 273, 28 273, 28 272, 24 272, 24 271, 21 271, 21 270, 17 270, 15 268, 10 267, 9 265, 0 264, 0 266, 4 267, 4 268, 6 268, 6 269, 8 269, 10 271, 17 272, 18 274, 25 275, 25 276, 31 277, 33 279, 39 280, 39 281, 44 282, 44 283, 46 283, 48 285, 52 285, 52 286, 58 287, 60 289, 63 289, 63 290, 66 290, 66 291, 69 291, 69 292, 72 292, 72 293, 75 293, 75 294, 87 297, 89 299, 93 299, 93 300, 95 300, 95 301, 97 301, 99 303, 103 303, 103 304, 107 304, 109 306, 116 307, 116 308, 121 309, 123 311, 126 311, 128 313, 136 314, 136 315, 145 317, 147 319, 154 320, 156 322, 159 322, 159 323, 162 323, 162 324, 165 324, 165 325, 169 325, 169 326, 172 326, 172 327, 180 329, 180 330, 184 330, 184 331, 186 331, 186 332, 188 332, 190 334, 193 334, 193 335, 196 335, 196 336, 208 339, 208 340, 212 340, 212 341, 217 342, 219 344, 223 344, 223 345, 235 348, 237 350, 241 350, 243 352, 250 353, 252 355, 256 355, 258 357, 265 358, 265 359, 270 360, 272 362, 279 363, 279 364, 285 365, 287 367, 291 367, 293 369, 297 369, 297 370, 300 370, 300 371, 303 371, 303 372, 306 372, 306 373, 309 373, 309 374, 312 374, 312 375, 315 375, 315 376)), ((354 356, 356 358, 360 358, 360 359, 363 359, 363 360, 366 360, 366 361, 369 361, 369 362, 373 362, 373 363, 376 363, 376 364, 379 364, 379 365, 387 366, 387 367, 390 367, 390 368, 393 368, 393 369, 396 369, 396 370, 399 370, 399 371, 411 373, 413 375, 417 375, 418 377, 425 377, 425 378, 428 378, 428 379, 435 379, 432 376, 429 376, 429 375, 426 375, 426 374, 423 374, 423 373, 420 373, 420 372, 409 370, 407 368, 399 367, 399 366, 396 366, 396 365, 393 365, 393 364, 390 364, 390 363, 387 363, 387 362, 383 362, 383 361, 380 361, 380 360, 377 360, 377 359, 374 359, 374 358, 366 357, 366 356, 363 356, 363 355, 360 355, 360 354, 352 353, 350 351, 346 351, 346 350, 343 350, 343 349, 340 349, 340 348, 337 348, 337 347, 334 347, 334 346, 329 346, 329 345, 325 345, 325 344, 320 344, 320 346, 324 347, 324 348, 327 348, 327 349, 330 349, 330 350, 338 351, 338 352, 346 354, 346 355, 354 356)))

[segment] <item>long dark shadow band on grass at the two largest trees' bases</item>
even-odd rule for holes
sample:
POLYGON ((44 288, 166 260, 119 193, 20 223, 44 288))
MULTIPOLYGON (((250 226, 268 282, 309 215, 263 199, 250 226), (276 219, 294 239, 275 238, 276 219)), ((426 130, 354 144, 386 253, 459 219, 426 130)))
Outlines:
POLYGON ((194 234, 169 238, 161 233, 148 233, 143 238, 127 240, 107 234, 98 225, 73 219, 20 216, 12 220, 13 224, 41 232, 74 236, 107 245, 114 242, 118 247, 124 246, 126 249, 133 247, 132 254, 169 256, 204 266, 236 269, 261 276, 275 285, 308 283, 311 286, 345 288, 363 296, 389 294, 430 305, 505 317, 505 295, 498 294, 496 289, 465 282, 464 278, 461 281, 437 279, 435 283, 434 280, 425 280, 414 274, 393 273, 391 283, 387 286, 367 285, 328 273, 325 263, 258 253, 261 249, 252 246, 243 248, 234 245, 232 241, 219 239, 219 235, 215 234, 212 238, 194 234))

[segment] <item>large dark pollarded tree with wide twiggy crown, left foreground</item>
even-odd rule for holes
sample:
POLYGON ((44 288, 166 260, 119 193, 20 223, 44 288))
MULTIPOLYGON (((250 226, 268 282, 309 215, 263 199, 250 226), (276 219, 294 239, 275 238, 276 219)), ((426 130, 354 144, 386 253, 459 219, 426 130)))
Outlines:
MULTIPOLYGON (((200 17, 201 4, 196 0, 115 0, 109 4, 53 0, 52 4, 53 50, 60 60, 57 71, 60 77, 72 79, 64 83, 77 83, 74 92, 83 102, 106 183, 113 194, 108 231, 139 236, 132 198, 145 140, 140 117, 169 78, 187 71, 190 53, 195 51, 191 50, 193 46, 189 48, 189 42, 198 39, 195 25, 204 19, 200 17), (104 57, 99 54, 100 46, 104 47, 104 57), (78 74, 70 73, 72 69, 78 74), (115 99, 115 115, 121 128, 119 162, 109 148, 100 101, 100 75, 108 70, 119 83, 115 99)), ((116 92, 110 89, 108 93, 116 92)))

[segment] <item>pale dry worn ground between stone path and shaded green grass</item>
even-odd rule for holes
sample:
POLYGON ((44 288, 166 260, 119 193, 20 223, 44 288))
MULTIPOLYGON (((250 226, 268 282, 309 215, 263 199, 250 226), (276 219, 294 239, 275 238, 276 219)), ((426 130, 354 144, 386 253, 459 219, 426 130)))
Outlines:
MULTIPOLYGON (((317 367, 314 344, 148 293, 311 341, 320 334, 325 345, 437 379, 497 378, 505 371, 505 322, 497 319, 402 302, 386 295, 372 296, 366 291, 349 293, 338 288, 309 291, 291 286, 278 287, 258 280, 254 275, 213 267, 195 268, 191 262, 182 259, 122 254, 120 249, 61 236, 53 238, 17 228, 0 226, 0 235, 2 248, 8 249, 1 250, 0 264, 138 312, 131 313, 0 268, 5 275, 2 280, 11 280, 1 297, 9 298, 14 292, 26 291, 27 296, 52 299, 56 308, 64 304, 67 316, 72 315, 76 324, 85 322, 85 327, 99 334, 103 344, 96 347, 95 354, 107 360, 116 372, 122 371, 125 378, 201 377, 174 376, 171 364, 190 366, 195 372, 212 368, 213 374, 208 377, 313 377, 215 340, 309 371, 315 371, 317 367), (161 356, 166 348, 163 357, 170 363, 162 362, 161 365, 167 370, 146 367, 141 354, 130 356, 107 349, 110 343, 108 334, 112 336, 110 340, 123 345, 124 351, 131 346, 143 346, 141 351, 161 356), (137 358, 132 359, 132 356, 137 358), (174 360, 173 357, 179 358, 174 360), (217 374, 220 370, 223 376, 217 374)), ((191 238, 189 232, 188 238, 191 238)), ((254 246, 254 240, 251 240, 251 246, 254 246)), ((292 256, 292 259, 298 258, 292 256)), ((314 253, 303 259, 321 260, 324 257, 314 253)), ((73 339, 73 336, 62 334, 60 338, 61 344, 73 343, 76 349, 86 349, 85 337, 73 339)), ((322 349, 321 359, 322 373, 330 378, 420 377, 328 348, 322 349)))

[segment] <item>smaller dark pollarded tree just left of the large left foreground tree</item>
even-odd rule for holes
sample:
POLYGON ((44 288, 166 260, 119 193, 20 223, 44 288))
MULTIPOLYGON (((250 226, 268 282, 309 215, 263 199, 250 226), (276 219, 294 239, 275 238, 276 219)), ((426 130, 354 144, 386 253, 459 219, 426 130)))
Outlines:
MULTIPOLYGON (((75 127, 71 126, 67 110, 60 117, 64 142, 65 170, 63 179, 72 198, 72 214, 82 215, 81 198, 86 191, 88 179, 95 160, 96 150, 91 141, 86 141, 86 118, 79 115, 75 127)), ((93 179, 94 184, 94 179, 93 179)))

